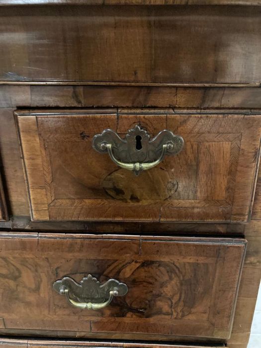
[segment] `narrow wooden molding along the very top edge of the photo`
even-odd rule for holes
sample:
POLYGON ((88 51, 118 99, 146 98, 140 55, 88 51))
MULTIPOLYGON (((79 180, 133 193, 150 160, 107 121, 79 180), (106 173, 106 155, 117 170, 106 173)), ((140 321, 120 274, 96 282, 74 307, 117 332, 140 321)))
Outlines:
POLYGON ((252 5, 259 0, 2 0, 4 5, 252 5))

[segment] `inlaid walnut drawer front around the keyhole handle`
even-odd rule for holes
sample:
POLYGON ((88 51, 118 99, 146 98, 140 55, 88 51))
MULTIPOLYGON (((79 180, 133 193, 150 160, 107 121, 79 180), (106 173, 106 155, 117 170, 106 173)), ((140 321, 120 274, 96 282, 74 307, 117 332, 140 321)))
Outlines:
POLYGON ((111 112, 18 112, 33 220, 247 221, 260 115, 111 112), (173 131, 183 149, 135 176, 92 148, 104 129, 124 138, 136 124, 173 131))

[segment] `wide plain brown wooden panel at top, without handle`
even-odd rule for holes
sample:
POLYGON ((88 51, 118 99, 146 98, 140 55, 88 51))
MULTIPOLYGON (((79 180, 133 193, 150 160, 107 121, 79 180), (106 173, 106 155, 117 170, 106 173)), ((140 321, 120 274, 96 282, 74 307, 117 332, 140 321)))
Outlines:
POLYGON ((0 32, 0 80, 261 82, 260 7, 3 7, 0 32))

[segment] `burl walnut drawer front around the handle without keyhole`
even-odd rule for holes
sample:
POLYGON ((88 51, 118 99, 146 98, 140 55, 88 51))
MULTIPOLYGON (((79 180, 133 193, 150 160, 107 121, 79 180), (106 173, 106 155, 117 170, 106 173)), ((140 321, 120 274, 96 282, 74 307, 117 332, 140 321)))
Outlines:
POLYGON ((1 232, 0 332, 228 339, 245 247, 245 240, 228 238, 1 232), (77 306, 110 295, 90 276, 81 283, 88 274, 128 290, 99 310, 77 308, 67 295, 77 306), (67 295, 56 291, 65 277, 67 295))

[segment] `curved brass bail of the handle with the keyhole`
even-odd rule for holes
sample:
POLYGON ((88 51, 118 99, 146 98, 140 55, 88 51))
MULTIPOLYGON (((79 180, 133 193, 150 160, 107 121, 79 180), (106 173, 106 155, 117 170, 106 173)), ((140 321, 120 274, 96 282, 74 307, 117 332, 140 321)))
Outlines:
POLYGON ((118 161, 114 155, 113 155, 113 152, 112 152, 112 146, 111 144, 106 144, 106 143, 103 143, 102 144, 104 147, 106 146, 107 148, 107 151, 108 151, 108 154, 109 154, 109 157, 110 159, 119 167, 121 168, 124 168, 124 169, 127 169, 129 171, 134 171, 135 174, 136 173, 140 173, 142 171, 147 171, 148 169, 151 169, 153 167, 156 167, 159 163, 161 163, 163 160, 164 160, 164 157, 167 153, 167 150, 168 150, 168 144, 164 144, 163 147, 162 147, 162 153, 161 153, 161 156, 158 158, 157 161, 154 161, 154 162, 150 162, 150 163, 123 163, 123 162, 120 162, 118 161))

